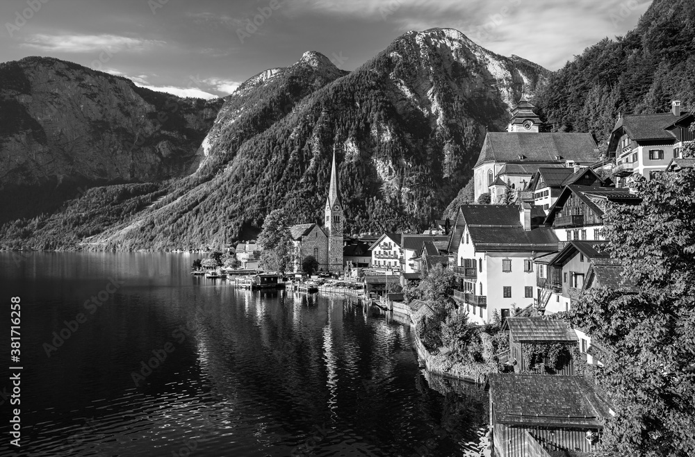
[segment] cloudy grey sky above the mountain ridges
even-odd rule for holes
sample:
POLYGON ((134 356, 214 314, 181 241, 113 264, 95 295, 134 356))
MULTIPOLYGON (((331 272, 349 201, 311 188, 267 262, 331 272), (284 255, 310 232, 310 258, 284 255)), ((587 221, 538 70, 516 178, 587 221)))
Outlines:
POLYGON ((49 56, 210 99, 305 51, 352 70, 407 31, 448 27, 555 70, 651 1, 1 0, 0 62, 49 56))

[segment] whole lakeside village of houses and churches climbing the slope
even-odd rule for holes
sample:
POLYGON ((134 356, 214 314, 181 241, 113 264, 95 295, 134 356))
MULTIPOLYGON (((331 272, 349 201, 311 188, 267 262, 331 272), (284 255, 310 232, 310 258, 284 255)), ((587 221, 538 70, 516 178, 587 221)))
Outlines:
POLYGON ((252 240, 236 245, 228 268, 215 273, 219 264, 208 263, 195 273, 229 274, 247 288, 354 294, 416 328, 428 370, 489 388, 494 456, 589 455, 615 414, 587 376, 605 349, 564 316, 592 289, 638 291, 603 249, 603 219, 611 204, 641 203, 630 186, 637 176, 695 166, 682 153, 695 140, 695 116, 671 105, 621 115, 600 153, 589 133, 544 132, 522 98, 507 131, 486 134, 474 201, 424 233, 344 236, 334 153, 324 224, 287 228, 287 272, 256 274, 265 247, 252 240), (420 285, 436 278, 448 281, 439 295, 420 285), (462 324, 484 329, 475 354, 456 331, 462 324))

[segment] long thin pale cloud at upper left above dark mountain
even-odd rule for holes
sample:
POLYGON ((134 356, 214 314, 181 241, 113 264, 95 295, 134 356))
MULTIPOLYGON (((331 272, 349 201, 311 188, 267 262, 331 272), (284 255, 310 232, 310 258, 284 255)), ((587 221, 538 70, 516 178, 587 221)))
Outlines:
POLYGON ((124 49, 143 51, 166 44, 159 40, 142 40, 119 35, 49 35, 35 33, 30 35, 21 47, 38 49, 44 52, 90 53, 104 51, 118 52, 124 49))

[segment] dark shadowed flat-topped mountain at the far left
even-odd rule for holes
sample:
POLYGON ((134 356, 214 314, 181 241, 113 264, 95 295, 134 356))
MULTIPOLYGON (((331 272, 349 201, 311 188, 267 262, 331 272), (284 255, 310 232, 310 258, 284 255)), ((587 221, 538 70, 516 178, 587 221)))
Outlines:
POLYGON ((221 106, 54 58, 0 64, 0 222, 81 188, 190 174, 221 106))

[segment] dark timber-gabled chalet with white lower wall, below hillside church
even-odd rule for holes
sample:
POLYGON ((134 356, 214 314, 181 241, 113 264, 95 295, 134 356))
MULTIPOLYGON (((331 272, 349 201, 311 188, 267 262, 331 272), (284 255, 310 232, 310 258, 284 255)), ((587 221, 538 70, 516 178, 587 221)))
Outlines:
POLYGON ((640 201, 625 188, 566 185, 548 210, 545 225, 555 230, 561 242, 603 240, 606 204, 639 204, 640 201))

